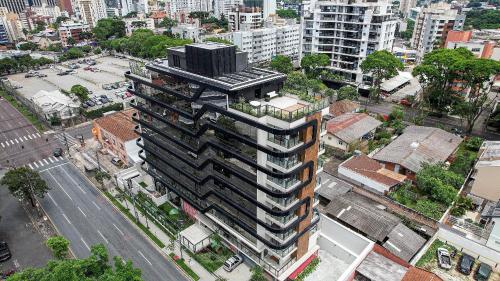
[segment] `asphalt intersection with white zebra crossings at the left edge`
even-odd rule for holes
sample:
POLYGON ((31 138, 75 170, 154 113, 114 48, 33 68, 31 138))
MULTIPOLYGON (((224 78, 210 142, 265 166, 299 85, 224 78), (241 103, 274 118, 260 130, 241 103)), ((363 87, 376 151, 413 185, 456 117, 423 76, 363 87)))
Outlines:
POLYGON ((47 158, 58 146, 52 136, 39 133, 10 103, 0 99, 0 169, 47 158))

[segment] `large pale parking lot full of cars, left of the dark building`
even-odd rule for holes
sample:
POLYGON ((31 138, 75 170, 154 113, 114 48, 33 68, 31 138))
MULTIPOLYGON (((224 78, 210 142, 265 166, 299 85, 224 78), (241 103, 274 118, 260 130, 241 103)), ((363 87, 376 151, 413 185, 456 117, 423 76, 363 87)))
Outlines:
POLYGON ((127 85, 119 82, 126 81, 124 73, 129 70, 129 60, 106 56, 95 58, 95 61, 95 65, 89 65, 82 59, 72 60, 38 71, 40 76, 46 75, 46 77, 26 78, 26 73, 18 73, 7 78, 13 86, 21 86, 17 91, 27 99, 33 97, 40 90, 63 89, 70 91, 73 85, 82 85, 92 92, 91 98, 105 95, 113 103, 122 102, 123 98, 120 95, 125 92, 127 85), (77 65, 78 68, 71 69, 69 67, 71 64, 77 65), (71 74, 58 75, 60 72, 71 70, 73 70, 71 74), (115 83, 121 84, 121 87, 104 89, 106 85, 115 83))

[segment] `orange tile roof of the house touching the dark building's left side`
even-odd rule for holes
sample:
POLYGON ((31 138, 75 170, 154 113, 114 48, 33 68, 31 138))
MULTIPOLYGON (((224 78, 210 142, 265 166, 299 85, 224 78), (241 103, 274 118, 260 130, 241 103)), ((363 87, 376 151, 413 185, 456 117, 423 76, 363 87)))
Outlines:
POLYGON ((132 115, 135 109, 126 109, 115 112, 94 120, 102 129, 114 135, 122 141, 130 141, 139 136, 134 132, 136 124, 132 121, 132 115))

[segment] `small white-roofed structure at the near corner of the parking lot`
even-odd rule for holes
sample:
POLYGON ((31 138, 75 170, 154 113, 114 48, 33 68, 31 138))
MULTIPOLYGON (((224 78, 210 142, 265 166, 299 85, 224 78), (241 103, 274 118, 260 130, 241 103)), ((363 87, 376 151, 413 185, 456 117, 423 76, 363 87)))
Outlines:
POLYGON ((64 122, 80 114, 79 102, 73 101, 59 90, 51 92, 40 90, 31 97, 31 101, 34 104, 35 111, 47 121, 56 118, 64 122))

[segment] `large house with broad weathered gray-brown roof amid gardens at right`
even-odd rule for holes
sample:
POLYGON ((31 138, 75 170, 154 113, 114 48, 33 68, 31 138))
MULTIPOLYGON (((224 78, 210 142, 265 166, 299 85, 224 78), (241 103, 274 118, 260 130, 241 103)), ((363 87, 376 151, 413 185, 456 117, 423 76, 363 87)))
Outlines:
POLYGON ((415 180, 423 164, 448 162, 461 142, 461 137, 439 128, 408 126, 373 159, 384 164, 386 169, 415 180))

